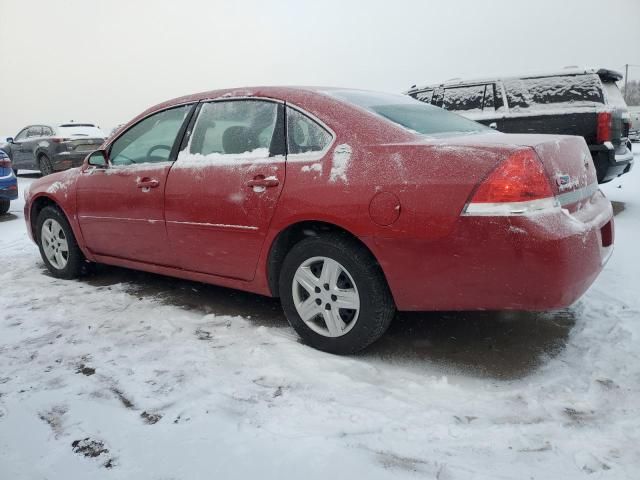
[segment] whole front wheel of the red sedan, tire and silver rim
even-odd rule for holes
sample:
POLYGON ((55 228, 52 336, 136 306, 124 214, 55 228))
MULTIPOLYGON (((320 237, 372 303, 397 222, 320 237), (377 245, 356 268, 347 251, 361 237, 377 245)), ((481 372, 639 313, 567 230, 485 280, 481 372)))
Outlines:
POLYGON ((85 270, 86 260, 71 226, 56 207, 45 207, 38 215, 36 235, 40 255, 54 277, 71 279, 85 270))

